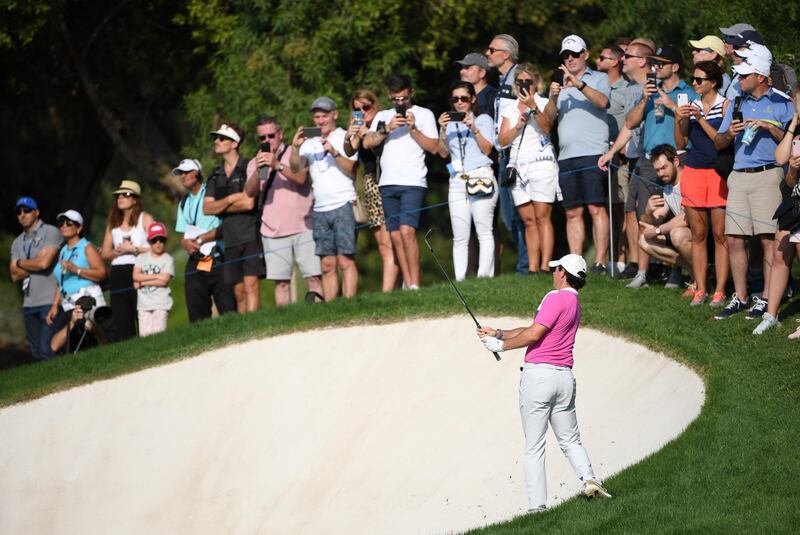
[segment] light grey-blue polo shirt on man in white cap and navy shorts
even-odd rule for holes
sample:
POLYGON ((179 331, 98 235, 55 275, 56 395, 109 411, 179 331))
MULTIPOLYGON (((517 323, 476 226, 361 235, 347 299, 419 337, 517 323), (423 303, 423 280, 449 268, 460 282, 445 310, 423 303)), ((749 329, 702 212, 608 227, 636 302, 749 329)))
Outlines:
MULTIPOLYGON (((589 68, 581 81, 606 97, 611 95, 608 75, 589 68)), ((565 87, 558 94, 558 159, 594 156, 608 150, 608 112, 598 108, 577 87, 565 87)))

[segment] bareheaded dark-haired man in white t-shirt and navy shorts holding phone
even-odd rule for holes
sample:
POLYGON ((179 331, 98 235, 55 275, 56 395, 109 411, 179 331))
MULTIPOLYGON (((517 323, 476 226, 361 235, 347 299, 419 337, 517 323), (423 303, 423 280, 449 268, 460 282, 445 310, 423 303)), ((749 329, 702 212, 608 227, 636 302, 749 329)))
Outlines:
POLYGON ((394 108, 375 116, 370 127, 372 132, 364 138, 364 146, 371 149, 383 144, 379 186, 386 228, 392 237, 405 287, 417 290, 417 227, 428 187, 425 152, 436 152, 439 136, 433 112, 412 103, 411 78, 394 75, 389 78, 388 89, 394 108))

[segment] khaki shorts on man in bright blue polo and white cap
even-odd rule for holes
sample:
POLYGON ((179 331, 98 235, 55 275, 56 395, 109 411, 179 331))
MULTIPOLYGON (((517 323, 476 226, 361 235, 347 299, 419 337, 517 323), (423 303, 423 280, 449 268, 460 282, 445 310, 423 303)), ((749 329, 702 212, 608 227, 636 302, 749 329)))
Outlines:
POLYGON ((775 234, 778 226, 772 216, 781 203, 782 181, 781 167, 760 173, 733 171, 728 176, 725 234, 729 236, 775 234))

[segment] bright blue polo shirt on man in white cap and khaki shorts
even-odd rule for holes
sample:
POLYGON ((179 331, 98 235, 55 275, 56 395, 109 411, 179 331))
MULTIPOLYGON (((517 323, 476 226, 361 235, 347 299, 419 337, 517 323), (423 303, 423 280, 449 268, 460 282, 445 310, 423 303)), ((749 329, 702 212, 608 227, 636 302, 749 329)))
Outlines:
MULTIPOLYGON (((785 128, 792 120, 794 104, 786 95, 770 88, 758 99, 745 94, 740 111, 745 121, 748 119, 777 121, 781 124, 781 128, 785 128)), ((730 128, 732 115, 733 105, 728 106, 728 111, 722 119, 719 127, 720 134, 727 132, 730 128)), ((761 128, 756 130, 756 136, 750 145, 742 145, 743 134, 744 132, 734 139, 736 153, 733 157, 733 168, 735 170, 775 163, 775 148, 778 146, 778 142, 769 132, 761 128)))

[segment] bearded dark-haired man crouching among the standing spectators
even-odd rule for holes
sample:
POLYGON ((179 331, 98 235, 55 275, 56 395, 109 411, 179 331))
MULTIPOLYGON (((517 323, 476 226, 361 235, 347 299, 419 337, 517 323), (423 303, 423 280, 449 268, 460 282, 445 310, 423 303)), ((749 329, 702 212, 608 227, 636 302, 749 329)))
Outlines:
MULTIPOLYGON (((672 145, 657 145, 652 153, 653 168, 664 184, 662 195, 652 195, 639 220, 639 247, 670 265, 691 271, 692 233, 681 206, 681 163, 672 145)), ((646 284, 645 284, 646 286, 646 284)))

